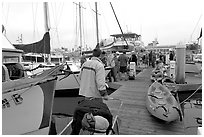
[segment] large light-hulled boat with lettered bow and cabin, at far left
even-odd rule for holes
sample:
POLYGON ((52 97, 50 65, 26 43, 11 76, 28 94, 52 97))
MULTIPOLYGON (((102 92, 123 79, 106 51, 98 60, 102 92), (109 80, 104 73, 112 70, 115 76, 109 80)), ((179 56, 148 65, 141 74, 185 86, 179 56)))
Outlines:
POLYGON ((21 64, 23 51, 3 34, 2 39, 2 134, 49 134, 56 74, 63 66, 45 75, 28 77, 21 64))

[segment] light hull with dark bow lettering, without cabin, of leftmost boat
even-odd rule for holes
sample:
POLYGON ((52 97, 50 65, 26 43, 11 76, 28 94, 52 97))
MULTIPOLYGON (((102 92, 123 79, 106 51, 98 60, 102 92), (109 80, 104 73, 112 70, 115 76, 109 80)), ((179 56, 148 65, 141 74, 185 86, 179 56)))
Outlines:
POLYGON ((52 73, 10 80, 8 69, 2 66, 3 135, 49 134, 57 80, 52 73))

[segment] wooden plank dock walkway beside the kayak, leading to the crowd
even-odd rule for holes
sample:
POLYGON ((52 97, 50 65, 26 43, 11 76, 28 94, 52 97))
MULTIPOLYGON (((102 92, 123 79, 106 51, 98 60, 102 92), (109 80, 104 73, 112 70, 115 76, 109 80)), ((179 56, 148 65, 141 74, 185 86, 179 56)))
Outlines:
MULTIPOLYGON (((135 80, 117 82, 122 86, 110 96, 123 101, 119 118, 121 135, 184 135, 184 123, 166 123, 153 117, 146 109, 145 96, 151 84, 152 68, 144 69, 135 80)), ((117 112, 117 107, 111 107, 117 112)))

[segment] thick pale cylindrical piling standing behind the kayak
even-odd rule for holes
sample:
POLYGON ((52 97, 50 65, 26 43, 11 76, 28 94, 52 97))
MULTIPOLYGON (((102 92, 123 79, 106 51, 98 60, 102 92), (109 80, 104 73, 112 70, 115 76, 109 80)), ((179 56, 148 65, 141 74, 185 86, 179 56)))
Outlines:
POLYGON ((176 46, 176 78, 177 84, 185 83, 186 45, 176 46))

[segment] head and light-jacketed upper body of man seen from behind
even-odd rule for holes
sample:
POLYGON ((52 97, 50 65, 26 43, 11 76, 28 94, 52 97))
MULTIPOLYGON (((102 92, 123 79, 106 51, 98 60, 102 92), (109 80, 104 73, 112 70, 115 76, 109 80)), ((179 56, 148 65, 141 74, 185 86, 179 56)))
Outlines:
POLYGON ((86 61, 82 65, 79 75, 79 95, 102 101, 102 98, 108 98, 108 94, 105 83, 105 68, 103 62, 99 59, 100 55, 101 50, 94 49, 91 60, 86 61))

